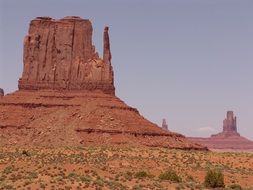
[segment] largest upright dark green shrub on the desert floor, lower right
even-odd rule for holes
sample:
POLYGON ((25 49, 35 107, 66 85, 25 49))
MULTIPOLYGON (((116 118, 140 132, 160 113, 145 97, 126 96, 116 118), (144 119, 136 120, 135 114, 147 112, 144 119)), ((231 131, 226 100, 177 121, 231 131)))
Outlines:
POLYGON ((208 170, 204 184, 209 188, 225 187, 224 175, 220 170, 208 170))

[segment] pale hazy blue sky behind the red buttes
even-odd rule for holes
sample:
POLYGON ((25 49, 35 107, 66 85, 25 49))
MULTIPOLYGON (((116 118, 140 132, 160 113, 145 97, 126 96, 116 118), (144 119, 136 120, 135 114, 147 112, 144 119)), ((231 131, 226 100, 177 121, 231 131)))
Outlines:
POLYGON ((100 55, 110 26, 116 94, 143 116, 209 136, 233 110, 253 139, 252 0, 0 0, 0 87, 17 89, 30 20, 67 15, 92 21, 100 55))

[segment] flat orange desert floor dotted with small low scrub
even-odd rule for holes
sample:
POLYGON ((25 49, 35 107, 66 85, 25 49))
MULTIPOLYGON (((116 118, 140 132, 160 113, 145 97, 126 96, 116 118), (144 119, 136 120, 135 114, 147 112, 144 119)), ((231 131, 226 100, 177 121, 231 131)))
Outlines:
POLYGON ((226 187, 253 189, 253 154, 127 146, 0 146, 0 189, 205 189, 208 168, 226 187), (181 182, 159 175, 175 171, 181 182))

